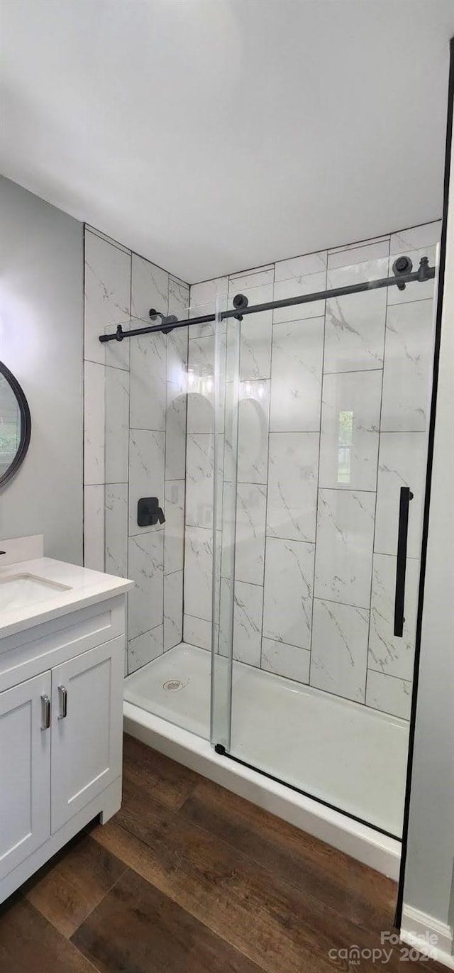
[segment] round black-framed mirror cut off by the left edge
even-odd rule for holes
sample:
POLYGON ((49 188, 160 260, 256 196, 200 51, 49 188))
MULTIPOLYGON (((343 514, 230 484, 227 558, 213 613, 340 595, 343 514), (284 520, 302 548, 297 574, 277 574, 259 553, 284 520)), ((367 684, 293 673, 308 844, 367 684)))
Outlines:
POLYGON ((17 378, 0 361, 0 487, 9 483, 28 450, 31 415, 17 378))

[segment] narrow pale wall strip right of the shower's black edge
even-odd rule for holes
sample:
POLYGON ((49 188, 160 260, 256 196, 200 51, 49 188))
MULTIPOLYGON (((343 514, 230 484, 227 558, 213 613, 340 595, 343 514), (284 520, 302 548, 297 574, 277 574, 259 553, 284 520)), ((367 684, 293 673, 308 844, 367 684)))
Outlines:
MULTIPOLYGON (((454 863, 454 147, 404 909, 450 915, 454 863)), ((403 920, 402 925, 405 925, 403 920)))

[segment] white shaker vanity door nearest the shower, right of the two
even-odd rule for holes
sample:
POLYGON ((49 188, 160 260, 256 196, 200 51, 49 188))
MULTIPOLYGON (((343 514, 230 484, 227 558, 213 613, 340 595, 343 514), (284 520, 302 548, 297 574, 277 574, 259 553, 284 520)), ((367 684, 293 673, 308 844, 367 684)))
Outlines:
POLYGON ((52 668, 52 834, 122 773, 123 645, 52 668))

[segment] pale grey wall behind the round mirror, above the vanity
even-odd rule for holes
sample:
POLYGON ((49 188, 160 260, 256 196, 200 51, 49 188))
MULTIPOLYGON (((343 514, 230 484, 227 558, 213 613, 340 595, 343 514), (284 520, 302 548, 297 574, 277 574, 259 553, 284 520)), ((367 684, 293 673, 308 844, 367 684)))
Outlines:
POLYGON ((0 493, 0 537, 44 533, 82 563, 83 226, 0 178, 0 357, 30 407, 30 447, 0 493))

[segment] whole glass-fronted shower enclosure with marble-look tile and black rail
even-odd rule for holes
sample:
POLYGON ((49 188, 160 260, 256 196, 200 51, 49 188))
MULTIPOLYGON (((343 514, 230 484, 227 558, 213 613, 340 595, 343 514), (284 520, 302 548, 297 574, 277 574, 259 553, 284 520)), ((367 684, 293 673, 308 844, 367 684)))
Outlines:
MULTIPOLYGON (((130 345, 125 701, 397 839, 439 232, 194 285, 171 308, 188 325, 169 330, 163 302, 163 319, 118 323, 164 333, 115 345, 130 345), (422 279, 375 287, 411 271, 403 257, 428 258, 422 279), (260 309, 232 316, 237 295, 260 309), (139 526, 150 497, 165 523, 139 526)), ((106 423, 113 402, 107 384, 106 423)), ((107 465, 118 449, 106 425, 107 465)))

